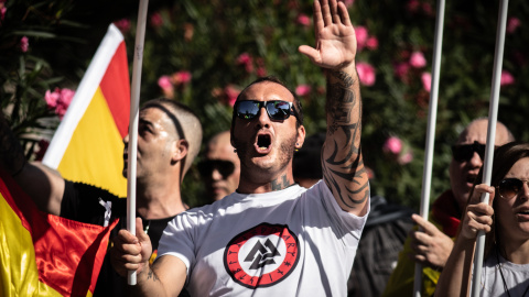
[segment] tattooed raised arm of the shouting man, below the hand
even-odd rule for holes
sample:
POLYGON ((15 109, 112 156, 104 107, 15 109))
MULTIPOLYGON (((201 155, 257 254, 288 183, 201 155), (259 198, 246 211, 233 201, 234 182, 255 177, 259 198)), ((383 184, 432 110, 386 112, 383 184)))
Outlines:
POLYGON ((359 146, 361 100, 353 88, 358 81, 343 72, 330 75, 333 79, 327 80, 326 112, 330 121, 327 134, 333 136, 335 133, 343 133, 344 143, 338 144, 336 142, 338 139, 335 138, 334 143, 325 144, 332 146, 332 154, 324 160, 323 176, 335 197, 346 207, 355 208, 369 197, 368 184, 360 182, 364 180, 361 177, 366 169, 359 146), (344 180, 352 183, 344 184, 344 180))

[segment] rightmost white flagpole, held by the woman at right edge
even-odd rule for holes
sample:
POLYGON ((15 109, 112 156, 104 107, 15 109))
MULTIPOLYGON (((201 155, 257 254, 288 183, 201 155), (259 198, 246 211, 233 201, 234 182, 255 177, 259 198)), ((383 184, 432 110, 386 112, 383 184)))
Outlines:
MULTIPOLYGON (((504 61, 504 45, 505 45, 505 28, 507 23, 507 8, 508 0, 499 2, 500 10, 498 13, 498 25, 496 32, 496 48, 494 54, 494 72, 493 86, 490 89, 490 102, 488 108, 488 133, 487 145, 485 150, 485 160, 483 164, 483 179, 482 183, 490 185, 493 174, 493 158, 494 144, 496 140, 496 122, 498 118, 498 101, 499 101, 499 81, 501 78, 501 65, 504 61)), ((482 204, 488 204, 488 193, 482 194, 482 204)), ((479 296, 479 287, 482 283, 482 267, 483 256, 485 253, 485 232, 479 231, 476 240, 476 251, 474 256, 474 274, 472 278, 472 296, 479 296)))

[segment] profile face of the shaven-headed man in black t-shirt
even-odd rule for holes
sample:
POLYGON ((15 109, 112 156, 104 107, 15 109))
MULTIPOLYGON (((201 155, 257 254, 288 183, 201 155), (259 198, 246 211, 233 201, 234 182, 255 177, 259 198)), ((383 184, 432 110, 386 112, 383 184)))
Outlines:
MULTIPOLYGON (((164 111, 150 107, 140 110, 138 124, 137 177, 163 174, 171 164, 176 135, 174 123, 164 111)), ((129 135, 123 139, 123 176, 127 176, 129 135)))

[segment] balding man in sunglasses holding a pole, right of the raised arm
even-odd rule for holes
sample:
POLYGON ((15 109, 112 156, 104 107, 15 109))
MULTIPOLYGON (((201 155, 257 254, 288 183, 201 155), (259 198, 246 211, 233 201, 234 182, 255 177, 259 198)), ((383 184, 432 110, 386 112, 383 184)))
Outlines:
MULTIPOLYGON (((411 296, 413 294, 415 262, 422 264, 422 294, 432 296, 446 260, 454 245, 460 219, 468 200, 468 194, 483 166, 487 142, 488 119, 473 120, 452 146, 450 163, 451 188, 432 205, 429 220, 413 215, 413 221, 422 230, 412 229, 399 255, 398 264, 388 280, 382 296, 411 296)), ((495 145, 514 141, 512 133, 501 122, 496 125, 495 145)))

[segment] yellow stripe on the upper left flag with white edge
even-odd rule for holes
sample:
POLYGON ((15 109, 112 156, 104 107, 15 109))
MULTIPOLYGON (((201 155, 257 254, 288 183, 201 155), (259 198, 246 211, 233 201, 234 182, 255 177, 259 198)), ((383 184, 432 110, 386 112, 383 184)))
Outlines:
POLYGON ((127 197, 127 179, 116 175, 123 169, 123 151, 108 147, 123 147, 123 143, 101 89, 97 88, 57 169, 71 180, 98 185, 127 197))

